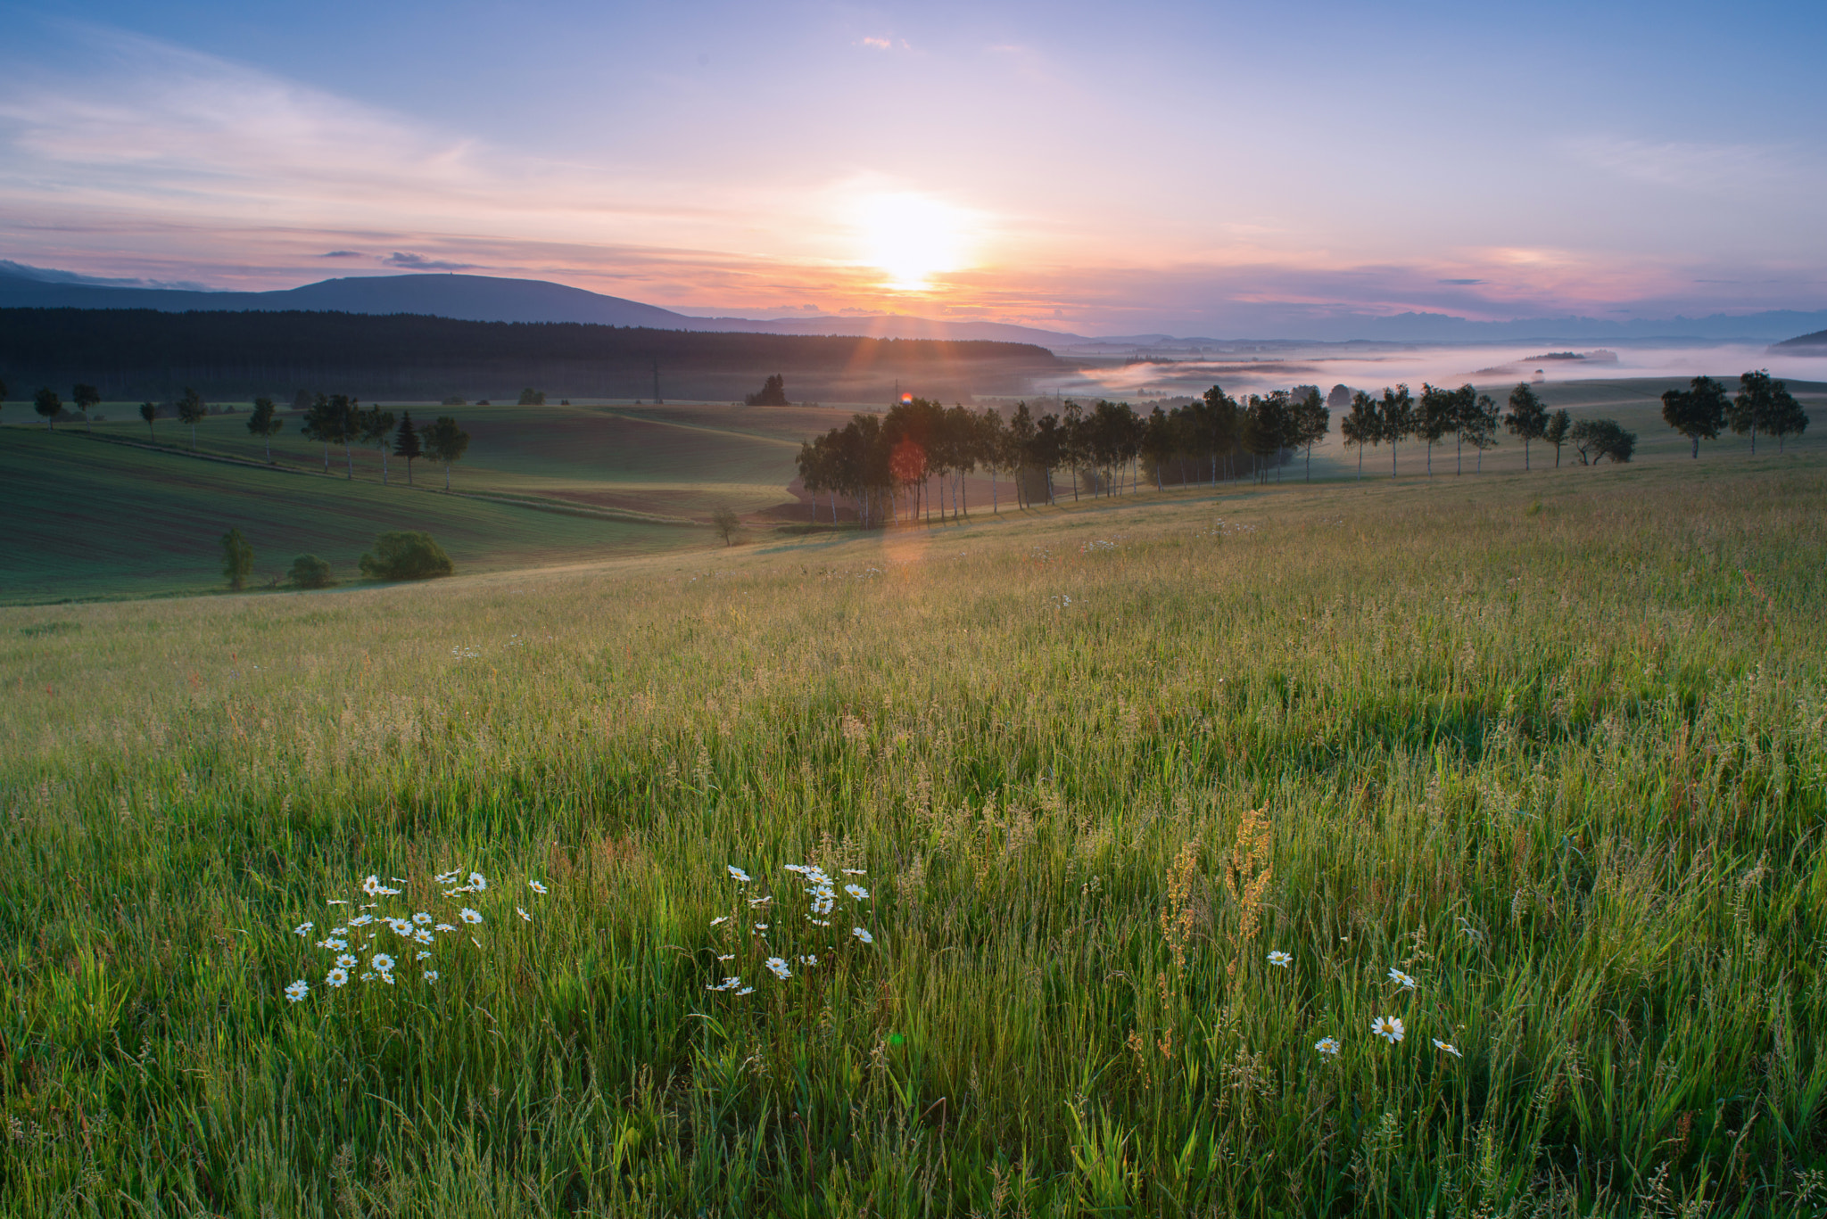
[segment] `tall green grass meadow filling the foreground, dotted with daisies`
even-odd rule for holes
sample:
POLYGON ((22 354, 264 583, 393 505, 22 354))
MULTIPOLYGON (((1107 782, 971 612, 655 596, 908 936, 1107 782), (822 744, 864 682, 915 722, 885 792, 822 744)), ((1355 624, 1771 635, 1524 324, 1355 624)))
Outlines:
POLYGON ((1822 1214, 1822 475, 0 610, 0 1210, 1822 1214))

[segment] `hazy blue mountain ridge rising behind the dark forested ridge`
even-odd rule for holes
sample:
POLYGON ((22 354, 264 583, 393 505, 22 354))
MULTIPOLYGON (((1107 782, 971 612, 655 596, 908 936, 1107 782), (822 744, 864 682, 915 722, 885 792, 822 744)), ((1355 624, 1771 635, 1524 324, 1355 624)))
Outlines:
POLYGON ((594 325, 645 325, 665 331, 749 334, 855 334, 870 338, 946 338, 1080 342, 1076 334, 1036 331, 999 322, 934 322, 904 316, 815 316, 815 318, 692 318, 638 300, 586 292, 546 280, 497 276, 404 274, 345 276, 272 292, 208 292, 183 287, 141 287, 90 281, 60 270, 40 270, 0 261, 0 307, 13 309, 157 309, 161 313, 208 311, 336 311, 417 313, 462 322, 586 322, 594 325))

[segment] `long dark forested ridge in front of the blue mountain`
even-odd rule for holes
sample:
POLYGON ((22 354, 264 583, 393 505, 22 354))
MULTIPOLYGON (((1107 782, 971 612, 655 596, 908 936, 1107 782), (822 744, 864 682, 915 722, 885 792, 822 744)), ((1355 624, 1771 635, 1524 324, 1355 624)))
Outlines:
POLYGON ((886 400, 897 382, 939 398, 1021 393, 1056 371, 1045 347, 1001 342, 718 334, 574 322, 422 314, 0 309, 0 378, 161 398, 186 386, 228 398, 298 389, 364 398, 738 398, 769 373, 795 400, 886 400))

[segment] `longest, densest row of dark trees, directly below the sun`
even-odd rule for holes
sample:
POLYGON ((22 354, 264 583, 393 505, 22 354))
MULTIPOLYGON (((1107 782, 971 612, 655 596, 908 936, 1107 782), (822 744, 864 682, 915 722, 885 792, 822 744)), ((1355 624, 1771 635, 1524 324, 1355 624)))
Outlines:
POLYGON ((1071 492, 1114 495, 1140 481, 1160 490, 1173 482, 1268 477, 1326 435, 1330 411, 1319 389, 1277 389, 1246 402, 1219 386, 1186 406, 1136 415, 1127 402, 1091 408, 1065 402, 1036 417, 1027 402, 1003 419, 996 409, 945 408, 926 398, 904 400, 886 415, 855 415, 842 428, 800 446, 800 481, 813 497, 851 501, 864 525, 926 512, 934 499, 941 519, 968 512, 965 475, 990 475, 990 506, 1001 508, 999 475, 1014 484, 1016 503, 1056 503, 1056 475, 1071 472, 1071 492))

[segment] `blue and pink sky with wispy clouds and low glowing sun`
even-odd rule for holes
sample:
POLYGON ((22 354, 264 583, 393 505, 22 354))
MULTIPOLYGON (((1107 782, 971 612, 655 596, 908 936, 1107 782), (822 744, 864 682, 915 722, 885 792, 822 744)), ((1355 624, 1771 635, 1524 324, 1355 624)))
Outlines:
POLYGON ((1827 5, 0 2, 0 260, 1080 334, 1827 309, 1827 5))

